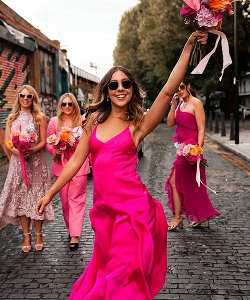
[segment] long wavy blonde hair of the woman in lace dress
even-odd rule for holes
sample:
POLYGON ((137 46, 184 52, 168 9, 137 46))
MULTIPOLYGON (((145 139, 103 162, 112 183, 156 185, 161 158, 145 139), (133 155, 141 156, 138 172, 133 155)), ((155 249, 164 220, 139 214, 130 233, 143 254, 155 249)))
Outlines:
POLYGON ((41 113, 41 109, 40 109, 40 106, 38 104, 39 103, 39 96, 38 96, 36 90, 33 88, 33 86, 28 85, 28 84, 24 84, 24 85, 22 85, 18 88, 15 100, 13 102, 12 110, 11 110, 11 113, 9 115, 8 124, 9 124, 9 126, 11 126, 13 121, 19 115, 19 112, 21 110, 21 104, 19 102, 19 92, 24 88, 26 88, 31 94, 33 94, 32 104, 30 106, 30 112, 32 114, 34 126, 37 127, 40 123, 40 113, 41 113))

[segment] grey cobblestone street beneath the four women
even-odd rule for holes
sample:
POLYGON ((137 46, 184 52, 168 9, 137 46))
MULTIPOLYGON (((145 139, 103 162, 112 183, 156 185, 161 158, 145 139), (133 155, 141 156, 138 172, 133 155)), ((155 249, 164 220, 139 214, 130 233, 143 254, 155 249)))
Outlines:
MULTIPOLYGON (((168 221, 171 212, 164 184, 175 157, 172 133, 160 124, 145 139, 144 156, 137 167, 151 195, 162 203, 168 221)), ((210 147, 205 147, 205 157, 209 164, 207 184, 218 193, 209 192, 209 196, 221 216, 211 220, 210 228, 188 228, 184 221, 183 229, 168 232, 167 276, 155 299, 250 300, 250 177, 210 147)), ((0 188, 6 172, 7 164, 0 166, 0 188)), ((22 253, 21 230, 12 225, 0 230, 0 299, 67 299, 91 257, 91 205, 89 178, 82 238, 74 252, 68 249, 58 196, 54 198, 56 222, 43 227, 42 252, 32 248, 22 253)))

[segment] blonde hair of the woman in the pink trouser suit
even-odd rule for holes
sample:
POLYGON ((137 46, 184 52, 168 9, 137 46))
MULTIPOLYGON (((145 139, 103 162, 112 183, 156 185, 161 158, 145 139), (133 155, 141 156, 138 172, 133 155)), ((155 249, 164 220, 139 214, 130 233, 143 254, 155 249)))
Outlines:
POLYGON ((61 103, 62 103, 62 100, 66 97, 70 98, 70 100, 72 101, 73 106, 74 106, 74 110, 73 110, 73 113, 72 113, 72 127, 80 126, 81 122, 82 122, 81 115, 80 115, 80 107, 78 105, 77 100, 75 99, 75 96, 71 92, 66 92, 66 93, 64 93, 60 96, 59 101, 58 101, 58 106, 57 106, 57 118, 58 118, 57 130, 60 130, 61 126, 63 124, 64 112, 61 109, 61 103))

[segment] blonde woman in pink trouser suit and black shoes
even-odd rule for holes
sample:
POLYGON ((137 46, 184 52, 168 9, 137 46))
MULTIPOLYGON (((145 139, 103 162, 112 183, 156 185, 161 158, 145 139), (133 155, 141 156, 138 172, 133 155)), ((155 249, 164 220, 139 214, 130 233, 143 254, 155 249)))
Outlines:
MULTIPOLYGON (((53 133, 59 137, 62 126, 74 128, 80 126, 83 117, 80 115, 78 103, 71 93, 64 93, 59 101, 57 116, 52 117, 47 127, 47 137, 53 133)), ((46 143, 46 150, 55 156, 59 154, 59 160, 53 161, 51 173, 55 179, 60 175, 64 165, 73 155, 75 149, 62 151, 46 143)), ((83 217, 85 212, 87 174, 89 173, 88 159, 59 191, 62 213, 66 224, 68 235, 70 236, 69 249, 75 250, 78 247, 79 236, 81 235, 83 217)))

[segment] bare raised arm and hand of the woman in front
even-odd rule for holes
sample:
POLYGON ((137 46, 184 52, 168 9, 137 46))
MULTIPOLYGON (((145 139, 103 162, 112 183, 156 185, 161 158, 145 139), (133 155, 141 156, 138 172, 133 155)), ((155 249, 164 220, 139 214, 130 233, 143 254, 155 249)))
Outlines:
POLYGON ((193 49, 196 38, 200 43, 205 44, 207 40, 207 33, 203 31, 195 31, 189 36, 187 42, 184 45, 179 60, 177 61, 173 70, 171 71, 171 74, 166 84, 163 86, 160 93, 154 100, 151 108, 144 115, 140 123, 138 133, 139 139, 142 139, 148 133, 150 133, 163 118, 173 94, 178 89, 178 86, 185 75, 190 59, 190 54, 193 49))

